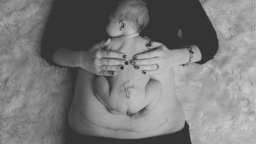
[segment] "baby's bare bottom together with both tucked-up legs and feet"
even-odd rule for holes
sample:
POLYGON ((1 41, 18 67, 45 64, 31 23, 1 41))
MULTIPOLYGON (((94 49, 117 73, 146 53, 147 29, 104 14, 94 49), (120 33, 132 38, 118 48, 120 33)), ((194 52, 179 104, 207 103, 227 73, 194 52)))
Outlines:
POLYGON ((133 90, 130 92, 124 89, 114 87, 110 90, 109 80, 105 76, 95 79, 95 95, 107 110, 112 114, 128 114, 133 119, 147 115, 159 101, 162 91, 158 80, 150 80, 145 89, 131 88, 133 90))

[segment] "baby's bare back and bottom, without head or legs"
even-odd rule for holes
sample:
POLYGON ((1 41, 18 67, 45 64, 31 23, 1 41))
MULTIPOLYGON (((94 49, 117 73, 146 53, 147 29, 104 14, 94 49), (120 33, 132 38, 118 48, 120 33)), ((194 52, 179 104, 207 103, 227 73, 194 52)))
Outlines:
POLYGON ((111 39, 111 44, 107 48, 111 51, 118 51, 127 55, 128 65, 124 65, 124 70, 117 71, 114 77, 108 77, 110 83, 111 108, 118 112, 135 113, 143 109, 145 103, 145 87, 149 82, 149 76, 143 75, 142 70, 135 70, 131 61, 136 54, 149 51, 146 44, 148 39, 140 36, 126 38, 121 36, 111 39))

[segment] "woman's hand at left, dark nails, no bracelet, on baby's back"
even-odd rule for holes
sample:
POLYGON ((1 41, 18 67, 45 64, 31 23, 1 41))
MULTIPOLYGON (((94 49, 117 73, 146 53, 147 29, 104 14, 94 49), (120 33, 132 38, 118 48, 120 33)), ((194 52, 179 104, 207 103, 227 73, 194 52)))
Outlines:
POLYGON ((123 65, 127 62, 123 59, 126 58, 126 55, 102 49, 110 42, 111 39, 103 40, 86 51, 79 51, 78 66, 96 75, 105 76, 114 76, 114 71, 123 70, 123 65))

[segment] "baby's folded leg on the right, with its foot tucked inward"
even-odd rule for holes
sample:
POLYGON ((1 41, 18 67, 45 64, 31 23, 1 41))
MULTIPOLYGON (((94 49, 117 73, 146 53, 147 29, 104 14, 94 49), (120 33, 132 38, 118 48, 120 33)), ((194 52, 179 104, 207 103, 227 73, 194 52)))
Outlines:
POLYGON ((128 113, 128 115, 131 118, 139 119, 149 114, 150 110, 155 106, 155 104, 157 104, 157 102, 161 97, 161 93, 162 93, 161 82, 158 80, 150 80, 145 87, 145 93, 146 93, 146 103, 148 103, 148 105, 136 113, 128 113))

